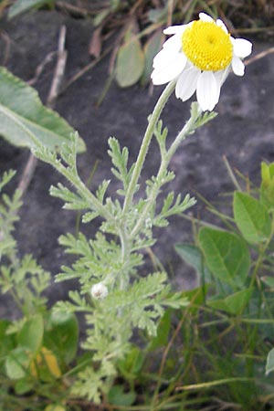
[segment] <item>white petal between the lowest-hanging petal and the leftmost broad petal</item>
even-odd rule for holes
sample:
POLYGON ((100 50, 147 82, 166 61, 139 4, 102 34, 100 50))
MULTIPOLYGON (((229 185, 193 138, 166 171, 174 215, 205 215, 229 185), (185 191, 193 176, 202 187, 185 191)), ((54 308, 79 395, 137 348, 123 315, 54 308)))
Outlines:
POLYGON ((201 71, 195 67, 184 69, 176 84, 175 95, 177 99, 185 101, 191 98, 195 93, 200 73, 201 71))

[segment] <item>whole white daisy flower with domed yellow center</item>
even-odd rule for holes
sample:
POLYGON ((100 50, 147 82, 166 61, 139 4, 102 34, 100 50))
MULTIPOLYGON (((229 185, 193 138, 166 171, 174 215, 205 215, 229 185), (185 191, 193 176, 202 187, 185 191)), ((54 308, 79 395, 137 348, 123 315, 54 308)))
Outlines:
POLYGON ((242 58, 251 53, 252 44, 244 38, 231 37, 220 20, 199 14, 200 19, 187 25, 163 30, 173 35, 153 59, 153 84, 176 80, 175 94, 183 101, 196 91, 202 111, 212 111, 219 100, 220 89, 229 69, 243 76, 242 58))

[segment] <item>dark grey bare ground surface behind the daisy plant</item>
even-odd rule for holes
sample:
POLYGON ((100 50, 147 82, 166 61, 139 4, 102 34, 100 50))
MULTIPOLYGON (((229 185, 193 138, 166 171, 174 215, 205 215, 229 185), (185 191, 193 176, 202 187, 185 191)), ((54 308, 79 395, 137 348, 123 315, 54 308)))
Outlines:
MULTIPOLYGON (((67 27, 65 85, 68 79, 90 63, 88 48, 92 26, 88 20, 73 19, 54 11, 38 11, 6 23, 2 26, 0 40, 1 64, 21 79, 34 78, 37 66, 48 53, 57 49, 61 25, 67 27)), ((255 43, 253 55, 268 47, 268 44, 255 43)), ((256 181, 259 180, 261 160, 274 161, 273 60, 273 54, 267 55, 251 62, 243 79, 233 75, 227 79, 216 107, 217 118, 189 137, 172 160, 171 169, 176 174, 172 184, 175 193, 195 195, 198 192, 209 201, 219 201, 221 192, 232 191, 233 185, 223 155, 227 156, 232 167, 256 181)), ((43 101, 47 99, 54 67, 55 59, 46 66, 35 84, 43 101)), ((161 87, 156 87, 151 95, 147 88, 138 85, 121 90, 113 83, 100 107, 96 107, 108 78, 108 68, 109 58, 104 58, 61 93, 56 104, 56 110, 79 131, 87 144, 87 153, 79 156, 79 173, 85 181, 99 161, 91 183, 93 190, 103 178, 111 178, 111 162, 107 155, 109 136, 119 138, 121 146, 129 147, 130 160, 133 161, 142 142, 147 116, 162 91, 161 87)), ((163 118, 171 139, 182 128, 188 112, 189 103, 175 98, 170 100, 163 118)), ((0 140, 0 172, 9 168, 17 170, 11 188, 16 187, 28 155, 27 150, 0 140)), ((155 172, 158 158, 158 149, 154 144, 148 155, 142 182, 155 172)), ((21 221, 16 231, 20 253, 32 253, 52 276, 58 273, 67 258, 58 245, 58 237, 63 233, 75 232, 76 228, 76 214, 62 210, 61 201, 48 195, 49 186, 58 181, 59 175, 50 166, 38 163, 24 198, 21 221)), ((114 189, 115 184, 110 194, 114 195, 114 189)), ((191 213, 200 215, 203 209, 204 205, 199 200, 191 213)), ((96 224, 83 227, 90 237, 96 228, 96 224)), ((195 275, 174 252, 174 243, 191 241, 190 224, 182 217, 172 218, 170 226, 164 231, 155 232, 155 235, 158 233, 159 241, 153 251, 163 262, 175 286, 179 289, 193 287, 195 275)), ((65 299, 68 285, 53 283, 48 294, 52 302, 65 299)), ((16 315, 10 300, 5 298, 0 305, 1 316, 16 315)))

